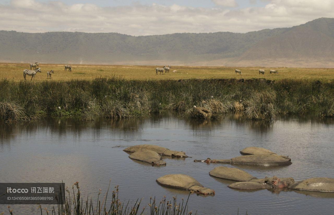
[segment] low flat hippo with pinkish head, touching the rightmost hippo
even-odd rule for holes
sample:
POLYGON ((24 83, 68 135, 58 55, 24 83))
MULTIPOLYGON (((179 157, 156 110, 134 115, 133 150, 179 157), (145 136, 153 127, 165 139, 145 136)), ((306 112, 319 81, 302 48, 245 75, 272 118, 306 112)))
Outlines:
POLYGON ((283 178, 279 179, 277 176, 273 178, 265 178, 259 180, 251 180, 246 182, 235 182, 230 184, 228 187, 238 190, 258 190, 258 189, 277 189, 286 188, 293 184, 293 178, 283 178))

